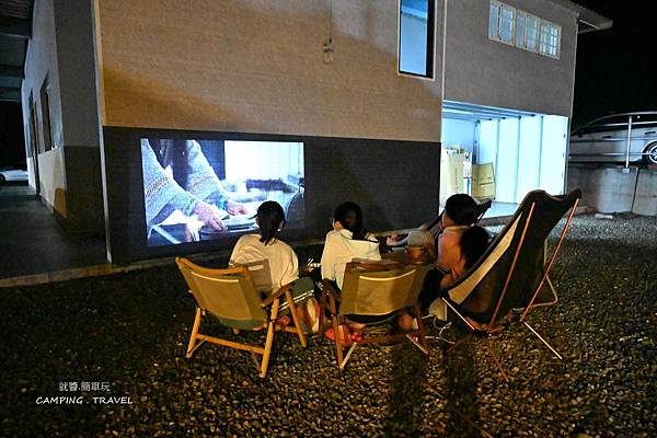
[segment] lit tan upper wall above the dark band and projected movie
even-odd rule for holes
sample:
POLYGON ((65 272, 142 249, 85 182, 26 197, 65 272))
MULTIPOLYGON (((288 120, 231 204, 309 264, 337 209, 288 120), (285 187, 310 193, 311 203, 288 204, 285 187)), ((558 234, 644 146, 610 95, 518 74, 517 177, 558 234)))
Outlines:
POLYGON ((104 124, 439 141, 441 81, 397 74, 397 8, 334 0, 326 65, 325 0, 101 0, 104 124))

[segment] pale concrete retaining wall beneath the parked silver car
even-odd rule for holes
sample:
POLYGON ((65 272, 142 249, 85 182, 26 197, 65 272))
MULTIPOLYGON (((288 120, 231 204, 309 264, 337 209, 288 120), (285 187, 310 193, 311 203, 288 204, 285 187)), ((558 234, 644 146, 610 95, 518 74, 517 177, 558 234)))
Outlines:
POLYGON ((580 188, 580 204, 600 212, 632 211, 657 216, 657 171, 654 169, 570 165, 568 192, 580 188))

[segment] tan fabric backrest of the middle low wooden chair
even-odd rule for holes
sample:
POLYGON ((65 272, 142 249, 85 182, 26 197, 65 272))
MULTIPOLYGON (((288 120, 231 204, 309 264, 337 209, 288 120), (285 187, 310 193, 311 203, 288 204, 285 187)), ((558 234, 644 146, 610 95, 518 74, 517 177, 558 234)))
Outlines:
POLYGON ((417 303, 428 266, 364 266, 348 263, 341 314, 383 315, 417 303), (420 278, 422 277, 422 278, 420 278))

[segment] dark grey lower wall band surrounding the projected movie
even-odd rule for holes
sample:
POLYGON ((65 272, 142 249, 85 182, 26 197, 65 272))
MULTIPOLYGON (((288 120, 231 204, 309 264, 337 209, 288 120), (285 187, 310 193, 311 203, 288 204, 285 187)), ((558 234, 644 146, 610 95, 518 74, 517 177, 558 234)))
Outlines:
POLYGON ((284 230, 287 241, 323 239, 337 204, 361 205, 372 231, 411 228, 438 212, 440 145, 376 139, 173 131, 105 127, 112 260, 127 263, 157 256, 227 250, 239 235, 191 244, 149 247, 146 241, 139 139, 233 139, 304 143, 306 227, 284 230))

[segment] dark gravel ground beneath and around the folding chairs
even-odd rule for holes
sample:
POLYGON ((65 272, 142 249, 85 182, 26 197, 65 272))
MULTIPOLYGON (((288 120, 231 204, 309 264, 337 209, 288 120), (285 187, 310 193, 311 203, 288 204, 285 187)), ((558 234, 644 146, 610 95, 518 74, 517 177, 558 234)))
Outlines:
POLYGON ((327 342, 281 334, 265 380, 245 353, 188 360, 194 301, 173 266, 0 289, 0 436, 655 436, 656 254, 657 218, 577 217, 561 301, 530 318, 564 360, 516 326, 494 344, 509 383, 481 341, 361 348, 339 373, 327 342), (82 404, 37 404, 60 396, 82 404))

